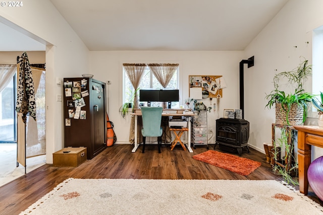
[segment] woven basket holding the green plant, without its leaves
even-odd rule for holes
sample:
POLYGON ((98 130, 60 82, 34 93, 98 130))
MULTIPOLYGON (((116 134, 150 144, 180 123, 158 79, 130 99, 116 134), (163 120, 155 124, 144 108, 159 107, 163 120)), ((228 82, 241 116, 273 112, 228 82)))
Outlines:
MULTIPOLYGON (((286 106, 285 109, 287 109, 286 106)), ((276 124, 288 125, 286 114, 286 111, 282 108, 282 104, 276 103, 276 124)), ((303 107, 298 106, 297 103, 292 104, 288 113, 289 125, 303 125, 303 114, 303 107)))

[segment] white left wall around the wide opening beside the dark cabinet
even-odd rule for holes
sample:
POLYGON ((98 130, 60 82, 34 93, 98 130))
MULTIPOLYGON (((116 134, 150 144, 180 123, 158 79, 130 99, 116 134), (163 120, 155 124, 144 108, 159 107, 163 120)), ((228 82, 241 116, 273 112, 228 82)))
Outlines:
POLYGON ((56 78, 88 73, 89 50, 49 0, 28 0, 21 8, 0 7, 0 22, 40 41, 46 47, 46 162, 62 149, 63 90, 56 78))

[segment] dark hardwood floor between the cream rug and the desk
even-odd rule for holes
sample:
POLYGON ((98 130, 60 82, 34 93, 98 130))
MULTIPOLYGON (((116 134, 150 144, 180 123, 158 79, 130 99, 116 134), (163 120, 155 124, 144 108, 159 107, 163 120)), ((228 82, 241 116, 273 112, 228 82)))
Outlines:
MULTIPOLYGON (((241 157, 261 162, 261 166, 248 176, 242 176, 203 162, 194 160, 196 154, 207 151, 205 146, 196 147, 194 153, 176 146, 173 151, 163 147, 158 154, 156 146, 141 146, 132 153, 133 145, 114 145, 87 160, 78 167, 52 167, 44 165, 13 182, 0 187, 0 214, 19 214, 40 197, 51 191, 68 178, 133 178, 133 179, 236 179, 236 180, 277 180, 279 175, 272 172, 265 163, 265 155, 250 149, 241 157)), ((213 145, 209 146, 213 149, 213 145)), ((217 151, 221 151, 216 149, 217 151)), ((295 187, 298 189, 298 187, 295 187)), ((319 202, 310 190, 308 196, 319 202)), ((321 205, 323 205, 321 203, 321 205)))

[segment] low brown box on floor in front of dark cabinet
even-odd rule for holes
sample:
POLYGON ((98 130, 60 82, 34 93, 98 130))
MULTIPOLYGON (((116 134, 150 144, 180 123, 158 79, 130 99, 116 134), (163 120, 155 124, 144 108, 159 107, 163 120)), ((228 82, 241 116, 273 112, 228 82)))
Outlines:
POLYGON ((87 160, 86 148, 64 148, 52 154, 53 167, 77 167, 87 160))

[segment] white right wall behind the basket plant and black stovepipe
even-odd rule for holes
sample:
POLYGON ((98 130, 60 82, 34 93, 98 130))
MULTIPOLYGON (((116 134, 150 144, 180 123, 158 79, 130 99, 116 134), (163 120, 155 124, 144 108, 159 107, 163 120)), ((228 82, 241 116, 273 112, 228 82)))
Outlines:
MULTIPOLYGON (((311 31, 323 25, 322 8, 320 0, 290 0, 245 50, 245 57, 255 55, 254 66, 245 71, 245 118, 250 122, 249 144, 258 151, 263 152, 263 142, 271 141, 275 122, 275 110, 264 108, 265 93, 274 89, 274 75, 297 67, 300 56, 312 64, 311 31)), ((311 86, 310 78, 305 90, 311 93, 311 86)), ((308 121, 313 124, 316 119, 308 121)), ((322 155, 323 149, 314 147, 312 159, 322 155)))

